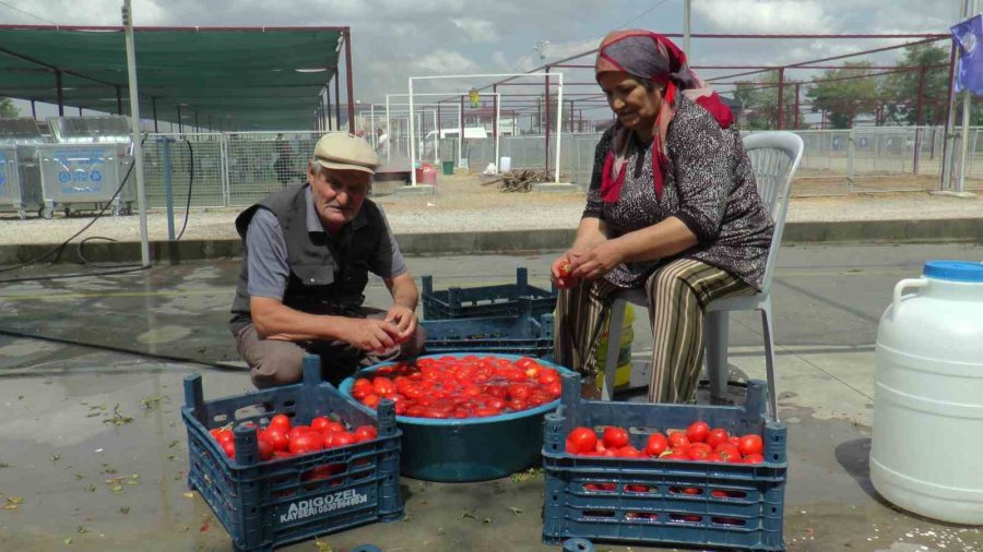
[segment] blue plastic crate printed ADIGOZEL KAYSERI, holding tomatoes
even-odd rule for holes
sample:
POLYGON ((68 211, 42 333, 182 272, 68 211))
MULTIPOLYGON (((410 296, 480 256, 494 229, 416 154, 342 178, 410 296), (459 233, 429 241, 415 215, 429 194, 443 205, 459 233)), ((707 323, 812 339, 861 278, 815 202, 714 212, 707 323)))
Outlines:
POLYGON ((198 490, 232 537, 236 550, 272 550, 374 521, 403 517, 400 437, 390 400, 377 417, 355 407, 321 381, 317 356, 304 358, 304 381, 246 395, 203 399, 200 375, 185 377, 181 419, 188 429, 188 484, 198 490), (352 425, 375 425, 372 441, 257 461, 256 424, 275 413, 295 423, 334 416, 352 425), (378 419, 378 421, 377 421, 378 419), (247 427, 246 422, 253 422, 247 427), (235 459, 209 430, 234 423, 235 459))

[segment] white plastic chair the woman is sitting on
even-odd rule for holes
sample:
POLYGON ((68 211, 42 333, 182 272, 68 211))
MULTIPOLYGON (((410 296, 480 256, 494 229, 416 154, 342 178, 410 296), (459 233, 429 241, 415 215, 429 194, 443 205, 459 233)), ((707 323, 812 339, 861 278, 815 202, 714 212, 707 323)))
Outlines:
MULTIPOLYGON (((791 132, 759 132, 744 139, 751 161, 751 169, 758 183, 761 201, 774 220, 774 235, 771 249, 765 265, 765 279, 761 290, 753 296, 737 296, 719 299, 707 308, 704 332, 707 344, 707 373, 710 377, 710 393, 714 398, 722 398, 727 391, 727 313, 730 311, 757 310, 761 312, 761 326, 765 338, 765 365, 768 372, 768 401, 771 418, 778 420, 778 398, 774 393, 774 331, 771 315, 771 277, 782 231, 785 227, 785 214, 789 209, 789 197, 792 192, 792 179, 798 169, 804 144, 802 139, 791 132)), ((618 347, 611 344, 620 343, 621 324, 625 317, 625 305, 632 303, 648 309, 646 292, 642 289, 629 289, 615 298, 611 309, 609 333, 607 337, 607 356, 604 362, 604 384, 601 398, 611 400, 615 383, 615 371, 618 362, 618 347)))

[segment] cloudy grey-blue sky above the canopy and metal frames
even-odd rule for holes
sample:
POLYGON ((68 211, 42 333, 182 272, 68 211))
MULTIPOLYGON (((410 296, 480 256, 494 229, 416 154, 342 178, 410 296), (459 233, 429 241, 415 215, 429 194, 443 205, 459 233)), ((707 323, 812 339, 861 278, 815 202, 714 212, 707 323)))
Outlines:
MULTIPOLYGON (((946 33, 961 19, 960 4, 958 0, 692 0, 690 21, 692 33, 946 33)), ((122 0, 0 0, 0 23, 119 25, 121 5, 122 0)), ((405 93, 410 76, 525 72, 542 60, 596 48, 605 34, 618 28, 682 33, 683 5, 684 0, 132 0, 138 26, 350 26, 355 97, 363 105, 405 93), (548 44, 537 50, 541 41, 548 44)), ((687 53, 692 65, 773 65, 895 44, 900 40, 695 38, 687 53)), ((896 50, 867 59, 892 63, 899 55, 896 50)), ((593 56, 577 63, 593 63, 593 56)), ((720 74, 701 72, 704 79, 720 74)), ((805 76, 800 72, 786 79, 805 76)), ((589 70, 568 70, 565 79, 593 82, 589 70)), ((414 88, 466 91, 493 81, 439 80, 419 82, 414 88)), ((576 85, 565 92, 599 88, 576 85)), ((599 109, 599 118, 606 115, 606 108, 599 109)), ((42 107, 42 115, 52 113, 42 107)))

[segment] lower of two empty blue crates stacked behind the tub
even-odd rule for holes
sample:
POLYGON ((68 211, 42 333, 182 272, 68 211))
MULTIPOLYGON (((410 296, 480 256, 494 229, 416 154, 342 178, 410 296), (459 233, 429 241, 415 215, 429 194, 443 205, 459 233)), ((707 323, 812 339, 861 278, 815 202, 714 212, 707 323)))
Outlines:
POLYGON ((525 313, 507 316, 422 320, 425 350, 553 357, 553 314, 536 319, 529 314, 529 303, 525 307, 525 313))

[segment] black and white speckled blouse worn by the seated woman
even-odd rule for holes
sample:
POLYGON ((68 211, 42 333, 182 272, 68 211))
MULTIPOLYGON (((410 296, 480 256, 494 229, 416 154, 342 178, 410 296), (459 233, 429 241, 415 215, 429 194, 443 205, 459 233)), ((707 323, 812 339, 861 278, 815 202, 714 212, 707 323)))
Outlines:
POLYGON ((613 135, 608 129, 597 144, 583 216, 604 220, 612 237, 675 216, 699 241, 671 259, 620 264, 605 278, 624 288, 641 287, 661 265, 695 259, 760 289, 774 224, 761 203, 737 129, 721 129, 713 116, 683 97, 666 133, 662 197, 655 197, 651 142, 641 144, 632 133, 620 197, 604 203, 601 171, 613 135))

